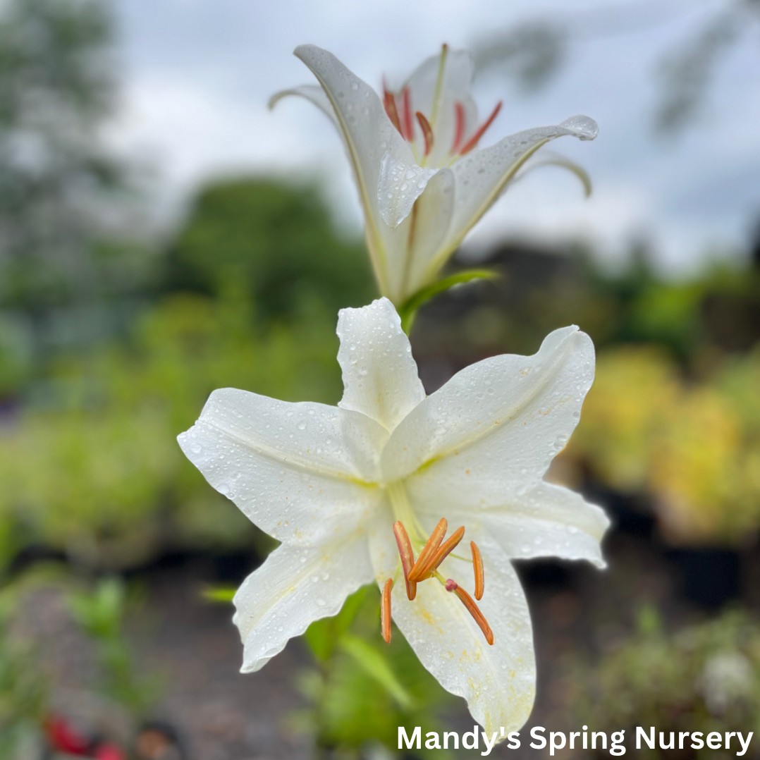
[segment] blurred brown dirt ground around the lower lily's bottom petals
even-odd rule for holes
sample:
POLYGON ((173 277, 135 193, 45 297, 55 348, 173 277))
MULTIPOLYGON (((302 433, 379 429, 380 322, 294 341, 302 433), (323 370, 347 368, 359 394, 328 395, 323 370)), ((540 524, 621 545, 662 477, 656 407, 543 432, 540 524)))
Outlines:
MULTIPOLYGON (((678 601, 673 567, 647 546, 613 537, 606 572, 585 563, 520 563, 539 668, 530 724, 562 725, 567 713, 562 658, 600 651, 624 638, 640 603, 668 609, 681 622, 701 614, 678 601)), ((242 577, 249 569, 236 568, 232 575, 242 570, 242 577)), ((141 672, 161 681, 163 696, 154 717, 179 730, 192 760, 306 760, 312 756, 309 736, 294 733, 289 716, 304 705, 295 682, 299 669, 308 667, 309 654, 291 641, 260 672, 239 673, 242 646, 232 607, 209 603, 201 594, 219 580, 218 561, 198 557, 164 562, 132 578, 144 588, 144 599, 131 612, 128 635, 141 672)), ((56 704, 64 711, 88 712, 88 719, 103 711, 106 716, 98 720, 112 720, 87 691, 96 670, 91 648, 71 623, 60 592, 37 592, 24 617, 44 653, 56 704)), ((446 722, 451 730, 471 730, 464 701, 446 722)), ((512 760, 518 755, 503 746, 492 753, 512 760)))

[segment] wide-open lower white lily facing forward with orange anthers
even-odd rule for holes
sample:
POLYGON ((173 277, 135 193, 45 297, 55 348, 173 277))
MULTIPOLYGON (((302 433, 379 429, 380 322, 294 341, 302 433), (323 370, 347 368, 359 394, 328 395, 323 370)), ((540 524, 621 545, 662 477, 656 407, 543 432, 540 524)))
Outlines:
POLYGON ((517 730, 536 674, 510 560, 603 566, 603 511, 543 480, 593 382, 591 339, 575 327, 554 331, 534 356, 485 359, 426 397, 388 299, 343 309, 337 334, 345 388, 337 407, 225 388, 179 435, 208 482, 282 542, 234 599, 242 672, 376 581, 386 638, 392 603, 423 665, 486 731, 517 730), (443 545, 442 518, 463 526, 443 545), (441 561, 464 530, 471 556, 441 561))

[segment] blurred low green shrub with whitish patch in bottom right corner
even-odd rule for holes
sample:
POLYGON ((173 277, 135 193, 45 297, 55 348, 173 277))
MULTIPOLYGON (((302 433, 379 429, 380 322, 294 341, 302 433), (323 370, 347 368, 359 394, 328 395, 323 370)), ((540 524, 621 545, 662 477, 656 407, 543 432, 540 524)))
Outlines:
MULTIPOLYGON (((653 610, 643 610, 638 633, 603 654, 594 667, 572 660, 566 685, 565 700, 575 724, 587 724, 592 731, 625 729, 629 743, 636 726, 655 726, 666 737, 670 731, 756 732, 760 626, 744 613, 729 612, 671 635, 660 629, 653 610)), ((604 750, 588 753, 607 756, 604 750)), ((701 758, 715 751, 654 753, 701 758)))

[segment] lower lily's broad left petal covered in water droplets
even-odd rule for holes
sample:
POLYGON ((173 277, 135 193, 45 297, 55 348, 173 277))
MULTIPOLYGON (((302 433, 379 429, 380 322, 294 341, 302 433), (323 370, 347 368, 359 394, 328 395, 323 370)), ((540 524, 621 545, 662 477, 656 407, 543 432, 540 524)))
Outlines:
POLYGON ((369 518, 382 492, 378 451, 388 433, 324 404, 214 391, 182 451, 217 491, 277 540, 321 543, 369 518))

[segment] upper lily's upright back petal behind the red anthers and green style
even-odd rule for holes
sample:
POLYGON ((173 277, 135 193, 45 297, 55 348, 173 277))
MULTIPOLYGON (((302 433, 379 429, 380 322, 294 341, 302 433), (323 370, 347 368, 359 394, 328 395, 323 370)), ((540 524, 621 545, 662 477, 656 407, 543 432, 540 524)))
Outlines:
MULTIPOLYGON (((470 92, 475 65, 466 50, 448 51, 439 102, 433 113, 440 60, 440 55, 432 55, 423 61, 406 83, 410 89, 413 111, 422 111, 432 127, 433 146, 428 156, 428 166, 448 163, 457 125, 454 103, 461 103, 464 112, 464 140, 477 128, 477 106, 470 92)), ((418 153, 422 155, 425 143, 419 129, 416 130, 416 138, 418 153)))

